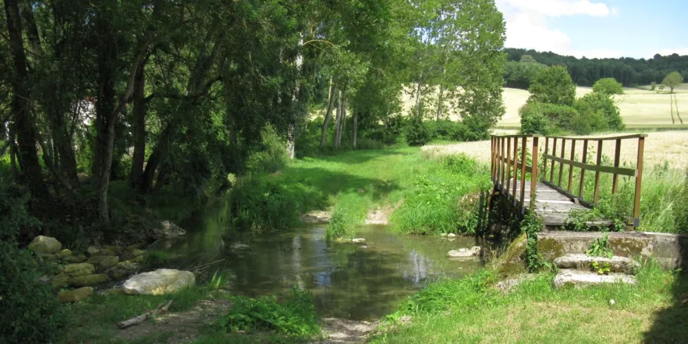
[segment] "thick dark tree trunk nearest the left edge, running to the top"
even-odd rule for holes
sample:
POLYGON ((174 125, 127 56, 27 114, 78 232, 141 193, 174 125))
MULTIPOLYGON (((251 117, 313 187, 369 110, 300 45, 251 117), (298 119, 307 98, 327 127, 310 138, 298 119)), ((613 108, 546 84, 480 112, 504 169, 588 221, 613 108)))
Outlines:
POLYGON ((17 0, 5 0, 5 12, 10 51, 16 76, 12 78, 12 102, 10 111, 14 114, 14 129, 17 133, 17 153, 21 172, 27 178, 29 187, 36 197, 47 196, 47 187, 43 181, 41 164, 36 151, 34 125, 30 114, 30 94, 25 85, 28 80, 27 61, 24 54, 24 43, 21 34, 21 19, 17 0))

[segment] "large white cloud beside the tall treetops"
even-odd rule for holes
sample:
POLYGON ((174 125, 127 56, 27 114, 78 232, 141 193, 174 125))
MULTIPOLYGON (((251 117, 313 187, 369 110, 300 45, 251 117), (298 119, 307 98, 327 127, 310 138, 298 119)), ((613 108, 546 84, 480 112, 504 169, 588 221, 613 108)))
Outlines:
POLYGON ((574 50, 571 39, 557 28, 550 28, 546 19, 568 15, 606 17, 617 14, 618 8, 608 8, 590 0, 497 0, 497 7, 506 20, 507 47, 522 47, 577 57, 619 57, 616 50, 574 50))

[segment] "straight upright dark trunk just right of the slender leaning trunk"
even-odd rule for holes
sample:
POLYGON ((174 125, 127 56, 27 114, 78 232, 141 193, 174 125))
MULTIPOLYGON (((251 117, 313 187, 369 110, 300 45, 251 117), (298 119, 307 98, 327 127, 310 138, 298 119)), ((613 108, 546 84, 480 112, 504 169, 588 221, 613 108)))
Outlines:
POLYGON ((136 72, 133 82, 133 157, 131 158, 131 172, 129 185, 139 189, 143 178, 143 164, 146 160, 146 73, 145 61, 136 72))

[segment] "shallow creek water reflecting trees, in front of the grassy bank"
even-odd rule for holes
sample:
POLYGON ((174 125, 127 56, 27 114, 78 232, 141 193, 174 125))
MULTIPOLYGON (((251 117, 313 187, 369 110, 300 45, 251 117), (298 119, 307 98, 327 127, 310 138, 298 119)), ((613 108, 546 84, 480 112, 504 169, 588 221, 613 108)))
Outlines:
MULTIPOLYGON (((386 226, 362 226, 356 237, 365 244, 325 239, 327 225, 310 225, 277 233, 227 230, 226 202, 213 202, 183 224, 187 236, 162 244, 178 268, 206 265, 208 271, 231 276, 230 292, 258 296, 283 295, 294 286, 314 295, 323 316, 375 319, 426 283, 458 278, 484 265, 480 259, 450 260, 449 250, 478 244, 473 237, 396 235, 386 226), (231 250, 233 244, 248 250, 231 250)), ((482 243, 484 246, 484 243, 482 243)))

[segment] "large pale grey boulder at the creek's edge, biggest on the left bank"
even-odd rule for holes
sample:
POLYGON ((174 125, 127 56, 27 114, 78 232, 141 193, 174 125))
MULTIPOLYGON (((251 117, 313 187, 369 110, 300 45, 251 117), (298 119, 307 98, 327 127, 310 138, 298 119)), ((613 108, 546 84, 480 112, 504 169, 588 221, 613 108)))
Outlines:
POLYGON ((169 294, 186 286, 194 286, 196 278, 190 271, 158 269, 134 275, 125 281, 125 294, 169 294))

